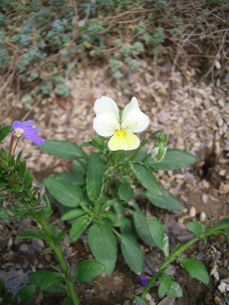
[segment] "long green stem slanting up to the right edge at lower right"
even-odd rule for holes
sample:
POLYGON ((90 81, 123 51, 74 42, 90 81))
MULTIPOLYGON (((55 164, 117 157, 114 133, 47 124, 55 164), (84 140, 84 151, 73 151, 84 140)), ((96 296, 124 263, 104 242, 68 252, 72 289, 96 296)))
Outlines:
MULTIPOLYGON (((218 227, 214 227, 210 230, 206 230, 202 237, 207 237, 210 235, 216 235, 219 234, 220 231, 222 230, 227 230, 229 228, 229 224, 221 224, 218 227)), ((167 267, 173 260, 175 260, 176 257, 178 257, 181 253, 184 252, 184 250, 186 250, 187 248, 189 248, 191 245, 193 245, 195 242, 197 242, 198 240, 200 240, 200 237, 193 237, 192 239, 190 239, 188 242, 186 242, 186 244, 184 244, 183 246, 181 246, 180 248, 178 248, 175 252, 171 253, 169 255, 169 257, 167 257, 164 262, 161 264, 161 266, 158 269, 158 272, 156 272, 152 278, 150 279, 150 281, 148 282, 148 284, 146 285, 144 291, 141 294, 141 298, 144 299, 144 297, 146 296, 147 292, 149 291, 149 289, 152 287, 154 281, 160 277, 162 270, 167 267)))

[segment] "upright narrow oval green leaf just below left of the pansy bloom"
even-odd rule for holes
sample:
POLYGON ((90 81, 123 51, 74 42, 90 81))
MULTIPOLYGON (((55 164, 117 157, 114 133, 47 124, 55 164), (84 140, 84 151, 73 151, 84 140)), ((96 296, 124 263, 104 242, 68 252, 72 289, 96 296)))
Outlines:
POLYGON ((103 189, 104 167, 99 154, 92 152, 89 157, 87 172, 87 194, 92 201, 96 201, 103 189))

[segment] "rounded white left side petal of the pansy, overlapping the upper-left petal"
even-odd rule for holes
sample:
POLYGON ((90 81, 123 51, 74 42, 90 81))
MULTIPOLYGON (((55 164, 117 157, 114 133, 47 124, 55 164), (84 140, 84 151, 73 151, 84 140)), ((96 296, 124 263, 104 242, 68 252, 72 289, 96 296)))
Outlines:
POLYGON ((102 113, 94 118, 93 128, 98 135, 110 137, 114 135, 115 130, 120 129, 120 124, 108 113, 102 113))

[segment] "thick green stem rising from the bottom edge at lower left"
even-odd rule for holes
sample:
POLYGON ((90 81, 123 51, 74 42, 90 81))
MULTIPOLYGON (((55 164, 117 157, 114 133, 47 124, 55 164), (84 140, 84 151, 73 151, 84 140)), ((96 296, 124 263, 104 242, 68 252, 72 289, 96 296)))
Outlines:
POLYGON ((70 275, 68 275, 67 266, 64 261, 64 257, 62 255, 60 244, 59 242, 54 242, 53 236, 50 233, 49 226, 46 224, 45 220, 39 221, 43 230, 45 231, 45 234, 47 235, 46 242, 49 244, 49 246, 52 247, 53 251, 55 252, 59 262, 60 266, 62 268, 62 271, 64 273, 64 282, 67 285, 68 291, 70 293, 71 299, 73 301, 74 305, 79 305, 80 301, 77 295, 77 292, 75 291, 75 280, 74 278, 71 278, 70 275))

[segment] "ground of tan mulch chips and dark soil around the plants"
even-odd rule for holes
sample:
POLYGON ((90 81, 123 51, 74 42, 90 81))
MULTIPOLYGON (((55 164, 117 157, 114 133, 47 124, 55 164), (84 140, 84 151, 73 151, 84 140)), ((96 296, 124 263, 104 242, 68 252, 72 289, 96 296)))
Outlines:
MULTIPOLYGON (((35 103, 28 105, 25 111, 22 105, 15 102, 16 99, 12 95, 7 115, 2 121, 11 124, 13 120, 32 119, 34 126, 42 129, 43 138, 67 139, 81 144, 89 140, 89 135, 93 135, 95 99, 107 95, 122 108, 136 95, 140 108, 151 121, 142 136, 147 137, 151 132, 163 129, 168 134, 168 147, 186 149, 199 158, 187 169, 155 171, 162 187, 177 196, 184 204, 185 210, 171 213, 155 208, 149 203, 145 204, 147 215, 157 216, 165 225, 173 247, 176 243, 185 242, 190 238, 190 234, 184 228, 188 221, 200 220, 204 223, 211 216, 213 223, 216 223, 221 218, 228 217, 228 97, 222 89, 225 84, 223 80, 222 88, 195 83, 194 69, 191 69, 190 75, 187 74, 185 79, 180 73, 172 74, 169 63, 164 63, 160 67, 157 77, 147 63, 144 69, 145 71, 140 73, 127 73, 124 83, 111 81, 107 67, 88 67, 79 71, 75 78, 69 81, 72 88, 71 99, 63 100, 54 95, 49 98, 38 96, 35 103)), ((17 149, 18 152, 24 150, 23 158, 27 160, 27 168, 32 170, 36 182, 52 172, 69 170, 69 163, 49 156, 26 140, 22 139, 17 149)), ((148 143, 149 148, 153 145, 154 141, 148 143)), ((54 209, 52 221, 68 231, 68 225, 60 221, 60 213, 55 207, 54 209)), ((42 268, 51 270, 49 264, 55 262, 55 257, 51 254, 40 255, 47 250, 41 241, 17 239, 16 236, 30 225, 35 223, 31 224, 28 219, 0 221, 0 277, 5 281, 5 286, 14 292, 27 283, 27 277, 31 272, 42 268)), ((80 260, 92 258, 86 244, 86 236, 73 245, 66 239, 64 241, 72 267, 80 260)), ((215 296, 220 298, 220 304, 226 304, 222 293, 217 290, 220 280, 229 276, 228 249, 223 237, 220 237, 220 241, 221 246, 213 238, 209 238, 205 246, 200 241, 184 254, 200 260, 209 272, 215 267, 218 278, 215 272, 210 276, 209 285, 201 284, 187 276, 184 269, 175 262, 169 272, 182 286, 184 296, 179 300, 164 299, 164 304, 210 305, 215 304, 215 296)), ((143 250, 146 263, 144 275, 150 276, 152 270, 162 262, 162 253, 146 245, 143 245, 143 250)), ((77 286, 82 304, 85 305, 115 305, 124 304, 125 301, 125 305, 128 305, 129 301, 142 291, 138 277, 129 271, 120 254, 116 269, 111 275, 102 275, 89 284, 77 283, 77 286)), ((153 300, 156 304, 160 302, 156 291, 156 288, 150 291, 152 305, 153 300)), ((37 292, 30 305, 59 305, 62 297, 37 292)))

